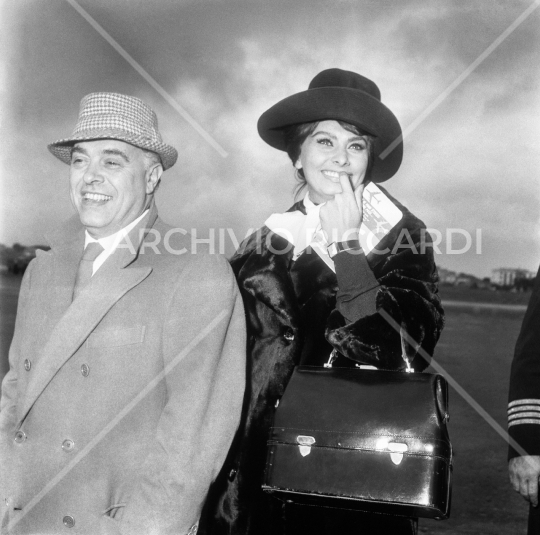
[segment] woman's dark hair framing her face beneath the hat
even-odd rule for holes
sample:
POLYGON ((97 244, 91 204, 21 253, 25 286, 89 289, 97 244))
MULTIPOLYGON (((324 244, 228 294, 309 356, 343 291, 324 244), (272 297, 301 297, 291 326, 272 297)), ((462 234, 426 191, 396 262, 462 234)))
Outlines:
MULTIPOLYGON (((363 136, 365 138, 368 148, 368 165, 366 169, 366 178, 369 181, 369 175, 371 174, 371 168, 373 167, 373 161, 375 159, 375 136, 372 136, 371 134, 366 134, 362 132, 357 126, 346 123, 345 121, 337 122, 340 124, 340 126, 345 128, 345 130, 352 132, 357 136, 363 136)), ((298 161, 298 158, 300 158, 300 153, 302 152, 302 145, 304 144, 304 141, 307 139, 308 136, 313 134, 315 128, 317 128, 317 125, 319 123, 320 121, 314 121, 312 123, 293 124, 283 129, 283 136, 285 138, 285 150, 287 151, 287 154, 289 155, 289 158, 291 159, 293 165, 298 161)), ((296 199, 300 196, 300 193, 307 186, 307 182, 303 169, 297 169, 295 175, 296 180, 298 181, 294 195, 296 199)))

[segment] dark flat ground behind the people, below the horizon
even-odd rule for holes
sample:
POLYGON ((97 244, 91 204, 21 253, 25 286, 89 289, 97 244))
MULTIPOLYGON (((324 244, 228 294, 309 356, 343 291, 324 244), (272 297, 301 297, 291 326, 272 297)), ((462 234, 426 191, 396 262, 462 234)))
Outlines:
MULTIPOLYGON (((0 376, 7 370, 19 284, 18 277, 0 276, 0 376)), ((463 300, 462 295, 455 297, 463 300)), ((491 294, 488 298, 500 301, 491 294)), ((503 296, 503 304, 509 300, 516 305, 526 302, 523 296, 503 296)), ((448 374, 503 428, 510 362, 522 317, 523 306, 449 303, 435 355, 448 374)), ((421 521, 420 533, 525 535, 527 507, 508 483, 506 443, 455 391, 450 392, 450 413, 455 449, 451 518, 421 521)))

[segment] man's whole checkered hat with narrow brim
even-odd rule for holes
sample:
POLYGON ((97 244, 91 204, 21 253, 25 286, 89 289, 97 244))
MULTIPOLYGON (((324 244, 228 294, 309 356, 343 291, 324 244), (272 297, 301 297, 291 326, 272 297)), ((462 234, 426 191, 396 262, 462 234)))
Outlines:
POLYGON ((155 152, 164 169, 178 158, 176 149, 163 143, 157 117, 141 99, 119 93, 90 93, 81 100, 79 118, 69 138, 51 143, 49 150, 64 163, 71 162, 71 147, 78 141, 118 139, 155 152))

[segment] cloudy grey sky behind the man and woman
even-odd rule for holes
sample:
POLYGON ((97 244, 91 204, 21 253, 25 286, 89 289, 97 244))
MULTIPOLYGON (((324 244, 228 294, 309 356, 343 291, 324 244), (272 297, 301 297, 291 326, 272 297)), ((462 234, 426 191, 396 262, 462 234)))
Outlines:
MULTIPOLYGON (((46 145, 71 133, 87 93, 127 93, 156 110, 165 140, 180 153, 157 195, 166 221, 200 237, 214 227, 241 239, 292 203, 290 162, 257 135, 263 111, 306 89, 317 72, 340 67, 373 79, 407 128, 532 5, 77 1, 227 156, 66 0, 0 0, 1 243, 44 243, 71 213, 68 168, 46 145)), ((421 121, 387 183, 428 227, 452 234, 439 246, 441 266, 479 276, 495 267, 538 267, 539 22, 540 8, 421 121), (451 229, 472 236, 467 253, 449 254, 466 246, 451 229)))

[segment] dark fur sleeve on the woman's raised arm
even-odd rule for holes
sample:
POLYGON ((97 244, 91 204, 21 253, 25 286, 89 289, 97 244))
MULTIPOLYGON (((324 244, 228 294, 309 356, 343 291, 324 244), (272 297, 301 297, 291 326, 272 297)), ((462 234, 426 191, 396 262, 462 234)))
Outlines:
POLYGON ((371 303, 376 291, 375 306, 364 306, 364 315, 355 321, 347 320, 338 306, 328 318, 326 338, 358 363, 403 369, 401 336, 380 314, 384 310, 415 341, 412 347, 407 344, 407 355, 413 368, 421 371, 429 361, 418 349, 431 356, 444 324, 431 238, 423 223, 405 210, 402 224, 379 246, 368 255, 379 286, 365 294, 371 303))

